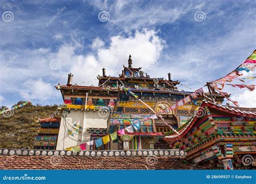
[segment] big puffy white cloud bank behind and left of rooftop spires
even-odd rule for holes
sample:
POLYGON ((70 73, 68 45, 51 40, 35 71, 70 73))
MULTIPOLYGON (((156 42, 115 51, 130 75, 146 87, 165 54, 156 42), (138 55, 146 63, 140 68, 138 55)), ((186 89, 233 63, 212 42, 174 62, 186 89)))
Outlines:
MULTIPOLYGON (((110 38, 109 45, 104 45, 98 38, 93 43, 93 53, 86 54, 80 52, 82 43, 75 37, 71 43, 64 43, 56 52, 49 48, 24 49, 23 53, 2 71, 1 92, 20 94, 24 100, 36 98, 46 102, 55 97, 61 98, 59 91, 53 86, 58 82, 65 84, 70 72, 74 74, 73 83, 97 86, 98 81, 95 79, 98 74, 102 74, 103 67, 106 68, 107 75, 118 76, 123 65, 127 66, 131 54, 133 66, 146 69, 146 62, 158 61, 165 47, 165 41, 160 39, 154 30, 143 30, 129 37, 114 36, 110 38), (59 60, 62 67, 52 69, 50 62, 53 59, 59 60)), ((2 62, 5 63, 9 54, 2 52, 2 55, 2 62)))

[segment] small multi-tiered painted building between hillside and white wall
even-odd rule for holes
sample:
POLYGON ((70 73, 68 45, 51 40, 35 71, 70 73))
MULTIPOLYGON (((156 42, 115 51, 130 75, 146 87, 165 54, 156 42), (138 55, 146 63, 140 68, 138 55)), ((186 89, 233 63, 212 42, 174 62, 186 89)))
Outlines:
POLYGON ((39 119, 41 128, 35 136, 34 148, 37 150, 56 150, 60 118, 49 117, 39 119))

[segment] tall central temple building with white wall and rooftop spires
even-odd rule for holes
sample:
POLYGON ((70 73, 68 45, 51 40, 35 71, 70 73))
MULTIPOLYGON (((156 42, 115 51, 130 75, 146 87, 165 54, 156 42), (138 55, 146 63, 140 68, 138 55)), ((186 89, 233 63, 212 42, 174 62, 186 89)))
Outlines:
MULTIPOLYGON (((169 125, 178 129, 186 123, 204 98, 201 96, 183 107, 166 113, 164 109, 192 92, 179 91, 177 85, 180 82, 173 81, 170 73, 166 80, 152 78, 141 69, 132 67, 132 59, 129 56, 128 67, 124 66, 118 77, 107 76, 103 68, 102 76, 97 76, 98 87, 73 85, 72 74, 69 74, 66 85, 58 84, 56 89, 61 91, 64 104, 59 107, 63 117, 60 122, 57 150, 96 140, 136 122, 142 123, 140 130, 125 132, 125 136, 118 136, 115 141, 100 147, 90 146, 89 149, 169 148, 169 144, 163 140, 164 133, 171 130, 169 125), (167 124, 160 119, 142 121, 151 116, 152 111, 122 87, 129 88, 138 98, 162 115, 167 124), (95 135, 91 130, 102 130, 102 133, 95 135)), ((205 95, 210 96, 207 93, 205 95)), ((213 93, 213 96, 215 101, 223 101, 222 95, 213 93)))

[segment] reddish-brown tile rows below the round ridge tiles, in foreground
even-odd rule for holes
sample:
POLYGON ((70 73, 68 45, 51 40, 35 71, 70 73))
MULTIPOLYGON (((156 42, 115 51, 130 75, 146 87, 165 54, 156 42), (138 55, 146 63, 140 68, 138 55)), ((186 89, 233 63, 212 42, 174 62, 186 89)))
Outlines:
MULTIPOLYGON (((0 169, 190 169, 176 157, 0 156, 0 169)), ((194 168, 194 167, 193 167, 194 168)), ((207 169, 198 165, 194 169, 207 169)))

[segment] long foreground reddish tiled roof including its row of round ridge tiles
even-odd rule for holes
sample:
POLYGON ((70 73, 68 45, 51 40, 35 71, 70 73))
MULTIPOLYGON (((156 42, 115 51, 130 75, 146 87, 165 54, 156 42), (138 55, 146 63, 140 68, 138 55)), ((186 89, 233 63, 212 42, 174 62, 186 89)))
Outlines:
MULTIPOLYGON (((56 150, 0 150, 0 169, 190 169, 192 165, 183 163, 185 157, 177 156, 177 150, 170 155, 170 150, 147 150, 149 153, 162 155, 143 155, 145 150, 136 150, 141 156, 127 155, 128 151, 112 151, 112 157, 104 156, 107 151, 88 151, 93 156, 86 156, 86 152, 56 151, 56 150), (120 153, 116 156, 115 152, 120 153), (121 152, 125 155, 122 156, 121 152), (165 155, 165 153, 169 155, 165 155), (19 153, 19 155, 17 155, 19 153), (39 153, 39 155, 35 155, 39 153), (61 156, 56 156, 58 153, 61 156), (78 155, 74 155, 74 153, 78 155), (82 155, 82 154, 83 155, 82 155), (95 154, 97 153, 97 154, 95 154), (100 153, 100 155, 98 155, 100 153), (42 155, 44 154, 44 155, 42 155), (50 155, 50 156, 49 156, 50 155), (53 156, 55 155, 55 156, 53 156)), ((130 150, 130 153, 132 150, 130 150)), ((181 153, 178 151, 178 153, 181 153)), ((197 165, 194 169, 207 169, 206 166, 197 165)))

